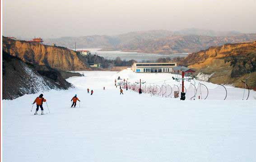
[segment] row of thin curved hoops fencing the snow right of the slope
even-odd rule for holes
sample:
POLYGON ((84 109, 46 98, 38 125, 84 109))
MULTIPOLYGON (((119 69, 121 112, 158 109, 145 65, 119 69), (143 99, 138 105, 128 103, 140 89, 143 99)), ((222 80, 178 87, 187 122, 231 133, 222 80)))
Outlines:
MULTIPOLYGON (((123 85, 126 88, 126 85, 123 85)), ((140 85, 128 84, 127 88, 130 91, 139 92, 140 85)), ((159 96, 167 98, 180 98, 182 85, 180 82, 169 83, 149 83, 141 85, 142 93, 150 96, 159 96)), ((248 100, 250 98, 249 88, 234 88, 221 84, 213 84, 207 86, 205 83, 189 83, 184 86, 186 100, 248 100)))

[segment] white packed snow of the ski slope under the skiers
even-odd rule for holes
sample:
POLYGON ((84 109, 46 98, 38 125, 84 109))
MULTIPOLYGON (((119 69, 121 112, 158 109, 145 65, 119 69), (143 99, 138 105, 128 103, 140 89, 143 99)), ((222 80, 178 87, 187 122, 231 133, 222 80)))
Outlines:
POLYGON ((256 162, 255 100, 120 95, 118 76, 152 83, 171 74, 81 73, 67 79, 75 88, 44 92, 50 114, 30 111, 40 93, 3 101, 3 162, 256 162), (81 102, 70 108, 74 94, 81 102))

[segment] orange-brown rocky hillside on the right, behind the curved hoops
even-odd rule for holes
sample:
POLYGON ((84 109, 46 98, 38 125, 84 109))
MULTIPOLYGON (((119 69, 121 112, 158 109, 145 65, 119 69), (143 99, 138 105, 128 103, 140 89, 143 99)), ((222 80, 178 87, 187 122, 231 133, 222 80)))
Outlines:
POLYGON ((191 53, 180 64, 197 70, 198 76, 208 75, 209 82, 233 84, 243 87, 241 80, 248 79, 250 88, 256 88, 256 41, 225 44, 191 53))

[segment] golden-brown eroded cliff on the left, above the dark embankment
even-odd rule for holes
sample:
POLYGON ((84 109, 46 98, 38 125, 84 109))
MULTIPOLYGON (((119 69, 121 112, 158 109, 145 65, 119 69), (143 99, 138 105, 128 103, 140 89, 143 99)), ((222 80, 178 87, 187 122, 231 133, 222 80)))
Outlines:
POLYGON ((3 37, 3 51, 22 61, 57 70, 90 70, 89 66, 70 49, 7 39, 3 37))

